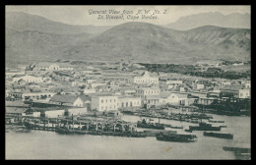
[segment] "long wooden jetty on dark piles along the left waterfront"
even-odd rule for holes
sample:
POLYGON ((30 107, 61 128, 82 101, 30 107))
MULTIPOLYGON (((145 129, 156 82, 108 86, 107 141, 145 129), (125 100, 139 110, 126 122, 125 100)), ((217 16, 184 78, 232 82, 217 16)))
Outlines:
POLYGON ((26 126, 29 130, 52 131, 60 134, 91 134, 134 138, 146 137, 144 133, 136 132, 136 124, 118 120, 99 120, 97 118, 94 120, 72 120, 65 118, 8 116, 8 118, 6 118, 6 124, 26 126))

